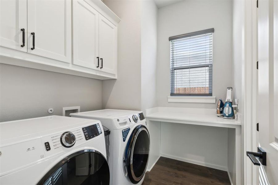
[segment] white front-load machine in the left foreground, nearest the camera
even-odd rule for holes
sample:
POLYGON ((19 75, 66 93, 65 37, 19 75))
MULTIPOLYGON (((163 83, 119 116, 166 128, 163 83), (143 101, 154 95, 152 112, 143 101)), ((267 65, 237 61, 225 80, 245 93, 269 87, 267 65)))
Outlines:
POLYGON ((101 122, 47 116, 0 123, 0 184, 109 184, 101 122))

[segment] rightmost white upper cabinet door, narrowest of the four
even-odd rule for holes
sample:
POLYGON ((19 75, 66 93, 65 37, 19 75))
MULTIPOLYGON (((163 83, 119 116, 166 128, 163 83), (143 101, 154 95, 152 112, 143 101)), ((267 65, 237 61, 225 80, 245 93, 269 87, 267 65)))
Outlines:
POLYGON ((99 57, 103 72, 117 72, 117 27, 99 15, 99 57))

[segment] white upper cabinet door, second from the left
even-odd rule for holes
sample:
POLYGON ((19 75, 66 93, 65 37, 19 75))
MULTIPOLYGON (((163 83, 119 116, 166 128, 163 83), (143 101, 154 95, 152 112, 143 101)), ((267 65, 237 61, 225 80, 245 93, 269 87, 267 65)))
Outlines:
POLYGON ((27 0, 27 7, 28 53, 71 63, 71 1, 27 0))

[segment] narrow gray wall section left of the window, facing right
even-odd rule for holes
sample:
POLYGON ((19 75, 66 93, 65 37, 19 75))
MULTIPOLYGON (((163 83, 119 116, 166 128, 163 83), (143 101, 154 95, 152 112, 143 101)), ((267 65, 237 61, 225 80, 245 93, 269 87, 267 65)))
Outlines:
POLYGON ((141 18, 141 110, 157 106, 157 13, 153 0, 142 1, 141 18))

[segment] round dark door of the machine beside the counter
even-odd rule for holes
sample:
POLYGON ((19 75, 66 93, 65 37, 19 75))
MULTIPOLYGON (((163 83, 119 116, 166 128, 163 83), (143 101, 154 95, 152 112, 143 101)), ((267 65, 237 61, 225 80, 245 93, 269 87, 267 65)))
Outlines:
POLYGON ((143 178, 150 153, 150 136, 144 125, 133 131, 127 145, 126 167, 129 179, 136 184, 143 178))

